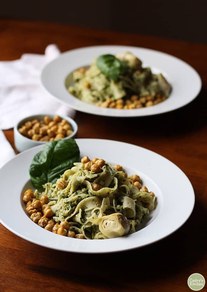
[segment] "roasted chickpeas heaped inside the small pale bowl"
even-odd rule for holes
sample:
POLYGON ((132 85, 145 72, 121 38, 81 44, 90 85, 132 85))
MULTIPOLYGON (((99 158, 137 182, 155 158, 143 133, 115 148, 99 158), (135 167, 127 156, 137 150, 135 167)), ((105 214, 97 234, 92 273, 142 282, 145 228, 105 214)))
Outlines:
POLYGON ((18 131, 20 134, 35 141, 56 141, 68 137, 73 133, 67 120, 59 116, 45 116, 43 121, 37 119, 25 122, 18 131))

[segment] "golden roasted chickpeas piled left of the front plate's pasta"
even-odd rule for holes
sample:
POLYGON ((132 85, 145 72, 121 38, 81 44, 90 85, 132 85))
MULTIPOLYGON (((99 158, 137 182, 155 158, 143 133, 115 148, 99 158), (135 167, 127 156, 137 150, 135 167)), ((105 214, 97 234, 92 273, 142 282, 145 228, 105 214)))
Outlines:
POLYGON ((74 231, 70 230, 70 225, 67 221, 62 221, 59 224, 53 220, 53 211, 48 205, 49 199, 46 195, 36 200, 34 192, 27 190, 24 193, 23 201, 26 204, 26 211, 30 219, 40 227, 59 235, 84 239, 83 234, 75 234, 74 231))

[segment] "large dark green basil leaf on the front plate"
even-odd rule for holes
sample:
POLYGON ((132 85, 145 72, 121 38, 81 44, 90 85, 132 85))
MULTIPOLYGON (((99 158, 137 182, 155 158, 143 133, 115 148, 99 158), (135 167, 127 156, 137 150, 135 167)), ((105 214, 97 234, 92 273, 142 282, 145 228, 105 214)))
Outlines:
POLYGON ((55 183, 79 159, 80 151, 75 140, 70 138, 48 142, 33 157, 29 168, 30 179, 38 191, 44 191, 42 185, 55 183))

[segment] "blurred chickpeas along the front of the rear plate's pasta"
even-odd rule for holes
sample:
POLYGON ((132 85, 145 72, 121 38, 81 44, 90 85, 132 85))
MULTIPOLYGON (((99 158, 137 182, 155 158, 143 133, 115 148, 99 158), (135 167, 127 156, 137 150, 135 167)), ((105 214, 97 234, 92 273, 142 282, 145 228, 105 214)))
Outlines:
POLYGON ((151 107, 164 100, 166 100, 166 97, 157 93, 155 96, 149 95, 146 97, 132 95, 130 99, 118 99, 117 101, 108 98, 104 102, 97 102, 96 105, 98 107, 109 107, 112 109, 140 109, 142 107, 151 107))

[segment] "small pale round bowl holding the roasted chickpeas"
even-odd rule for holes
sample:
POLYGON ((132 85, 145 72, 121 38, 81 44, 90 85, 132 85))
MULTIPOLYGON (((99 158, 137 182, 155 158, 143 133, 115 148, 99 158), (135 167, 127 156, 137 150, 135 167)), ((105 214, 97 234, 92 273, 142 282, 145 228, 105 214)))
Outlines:
MULTIPOLYGON (((25 122, 32 121, 34 119, 37 119, 38 121, 40 121, 40 120, 43 120, 45 116, 51 117, 53 119, 55 115, 36 114, 36 115, 30 116, 30 117, 26 117, 25 119, 19 121, 17 123, 17 125, 14 127, 14 145, 19 152, 25 151, 25 150, 32 148, 34 146, 37 146, 37 145, 47 143, 45 141, 34 141, 30 138, 23 136, 18 131, 20 126, 22 126, 25 122)), ((76 122, 73 119, 71 119, 70 117, 61 116, 61 118, 67 120, 70 123, 72 130, 73 130, 73 133, 71 135, 69 135, 68 137, 65 137, 64 139, 75 138, 75 136, 77 134, 77 130, 78 130, 78 126, 77 126, 76 122)))

